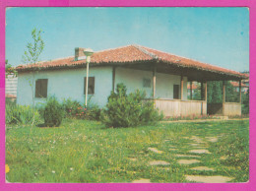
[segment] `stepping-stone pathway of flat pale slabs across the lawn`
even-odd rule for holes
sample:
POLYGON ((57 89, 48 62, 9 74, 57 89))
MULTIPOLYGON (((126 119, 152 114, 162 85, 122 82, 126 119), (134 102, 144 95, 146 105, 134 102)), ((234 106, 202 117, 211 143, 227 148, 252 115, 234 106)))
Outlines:
MULTIPOLYGON (((202 162, 201 161, 201 157, 203 158, 204 156, 202 156, 201 154, 211 154, 208 151, 208 144, 209 142, 212 143, 216 143, 219 141, 220 136, 217 137, 205 137, 205 138, 200 138, 199 134, 195 134, 194 136, 190 136, 190 137, 181 137, 180 139, 187 139, 187 140, 191 140, 193 141, 193 143, 183 143, 182 147, 177 147, 175 146, 174 143, 172 143, 171 145, 169 145, 168 151, 170 151, 170 155, 172 155, 173 157, 175 157, 177 159, 177 162, 180 165, 183 165, 185 167, 188 167, 188 169, 190 170, 194 170, 195 173, 204 173, 204 171, 216 171, 215 168, 213 167, 208 167, 208 166, 204 166, 204 165, 200 165, 200 166, 195 166, 193 165, 193 167, 189 168, 190 164, 197 164, 202 162), (177 152, 179 151, 179 149, 185 149, 185 151, 188 150, 188 154, 178 154, 177 152), (171 153, 171 151, 175 151, 175 153, 177 154, 173 154, 171 153), (191 155, 189 155, 191 154, 191 155), (192 155, 192 154, 198 154, 198 155, 192 155), (182 158, 182 159, 178 159, 178 158, 182 158), (191 158, 196 158, 196 159, 191 159, 191 158)), ((165 139, 164 142, 166 142, 166 144, 168 144, 167 142, 172 141, 171 139, 165 139)), ((154 152, 156 154, 162 154, 162 151, 159 151, 157 148, 148 148, 148 150, 150 150, 151 152, 154 152)), ((137 159, 133 159, 130 158, 131 160, 135 161, 137 159)), ((225 156, 221 157, 220 159, 226 159, 225 156)), ((149 162, 149 165, 157 165, 157 168, 160 170, 164 169, 164 170, 169 170, 171 168, 171 166, 167 166, 170 163, 164 160, 153 160, 149 162)), ((193 171, 190 171, 193 172, 193 171)), ((193 175, 193 174, 187 174, 185 175, 185 179, 187 181, 192 181, 192 182, 203 182, 203 183, 225 183, 225 182, 229 182, 233 179, 233 177, 227 177, 227 176, 223 176, 223 175, 193 175)), ((139 180, 134 180, 133 183, 150 183, 150 179, 139 179, 139 180)))

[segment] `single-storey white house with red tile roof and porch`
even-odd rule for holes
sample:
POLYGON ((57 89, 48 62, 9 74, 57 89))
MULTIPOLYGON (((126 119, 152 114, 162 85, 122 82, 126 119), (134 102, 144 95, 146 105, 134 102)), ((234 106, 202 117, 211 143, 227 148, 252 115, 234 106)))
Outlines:
MULTIPOLYGON (((83 50, 75 48, 75 56, 67 58, 18 66, 17 102, 32 104, 32 96, 36 103, 44 102, 47 96, 85 102, 87 64, 83 50), (30 82, 35 87, 34 93, 30 82)), ((241 82, 246 78, 232 70, 141 45, 128 45, 92 55, 89 102, 104 106, 116 84, 124 83, 128 93, 137 89, 145 91, 165 116, 201 115, 216 108, 207 104, 208 81, 241 82), (202 100, 187 99, 187 83, 193 81, 201 83, 202 100)), ((224 115, 241 114, 240 102, 224 101, 220 105, 219 112, 224 115)))

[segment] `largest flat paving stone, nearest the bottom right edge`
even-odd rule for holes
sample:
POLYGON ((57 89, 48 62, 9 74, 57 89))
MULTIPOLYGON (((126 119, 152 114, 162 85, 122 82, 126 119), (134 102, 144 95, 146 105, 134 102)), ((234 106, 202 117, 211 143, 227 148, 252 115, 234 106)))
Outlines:
POLYGON ((201 175, 185 175, 186 180, 203 182, 203 183, 225 183, 232 180, 232 177, 226 176, 201 176, 201 175))

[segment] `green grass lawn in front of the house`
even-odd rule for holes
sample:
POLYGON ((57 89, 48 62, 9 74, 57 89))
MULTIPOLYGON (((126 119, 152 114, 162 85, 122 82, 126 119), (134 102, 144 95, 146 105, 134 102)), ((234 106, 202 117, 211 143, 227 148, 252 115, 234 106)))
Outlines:
POLYGON ((249 177, 249 121, 160 123, 136 128, 104 128, 96 121, 66 119, 60 127, 13 127, 6 131, 10 182, 189 182, 185 175, 223 175, 231 182, 249 177), (211 154, 179 164, 175 155, 192 155, 192 136, 211 154), (218 138, 211 142, 207 137, 218 138), (161 154, 149 148, 156 148, 161 154), (171 150, 171 149, 176 150, 171 150), (163 160, 168 165, 150 165, 163 160), (192 170, 208 166, 214 171, 192 170))

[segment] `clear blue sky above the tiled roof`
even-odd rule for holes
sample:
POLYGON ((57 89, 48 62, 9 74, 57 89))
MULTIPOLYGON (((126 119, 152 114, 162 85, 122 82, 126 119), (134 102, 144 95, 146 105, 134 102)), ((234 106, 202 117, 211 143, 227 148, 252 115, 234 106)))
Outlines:
POLYGON ((139 44, 235 71, 249 70, 247 8, 7 8, 6 59, 14 66, 32 29, 45 43, 39 59, 139 44))

